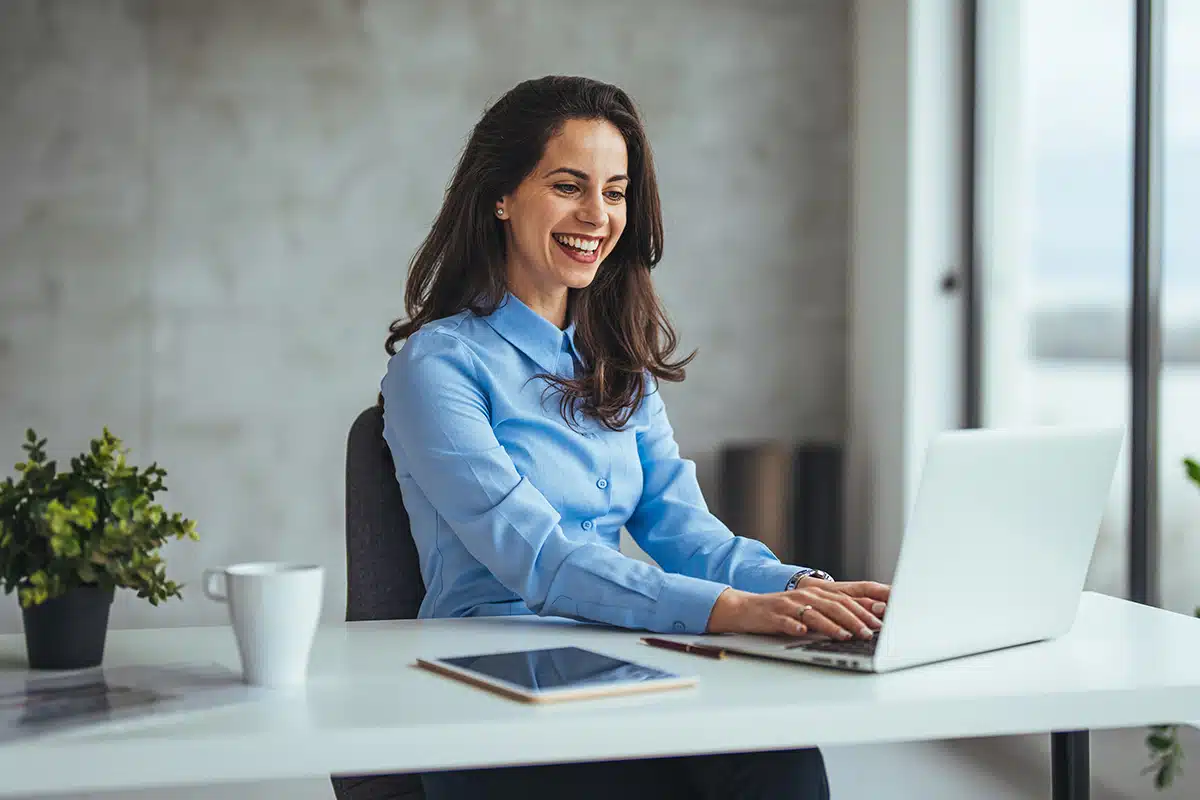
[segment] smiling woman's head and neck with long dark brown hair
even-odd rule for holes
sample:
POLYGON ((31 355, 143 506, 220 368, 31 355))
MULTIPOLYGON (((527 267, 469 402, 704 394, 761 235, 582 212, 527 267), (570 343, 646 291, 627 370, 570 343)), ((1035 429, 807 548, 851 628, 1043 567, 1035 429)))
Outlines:
POLYGON ((475 126, 437 219, 413 258, 407 319, 493 312, 511 291, 559 327, 575 323, 582 369, 548 375, 562 408, 619 427, 647 373, 678 381, 691 356, 650 283, 662 213, 649 142, 629 96, 582 78, 527 80, 475 126), (590 251, 590 252, 587 252, 590 251))

